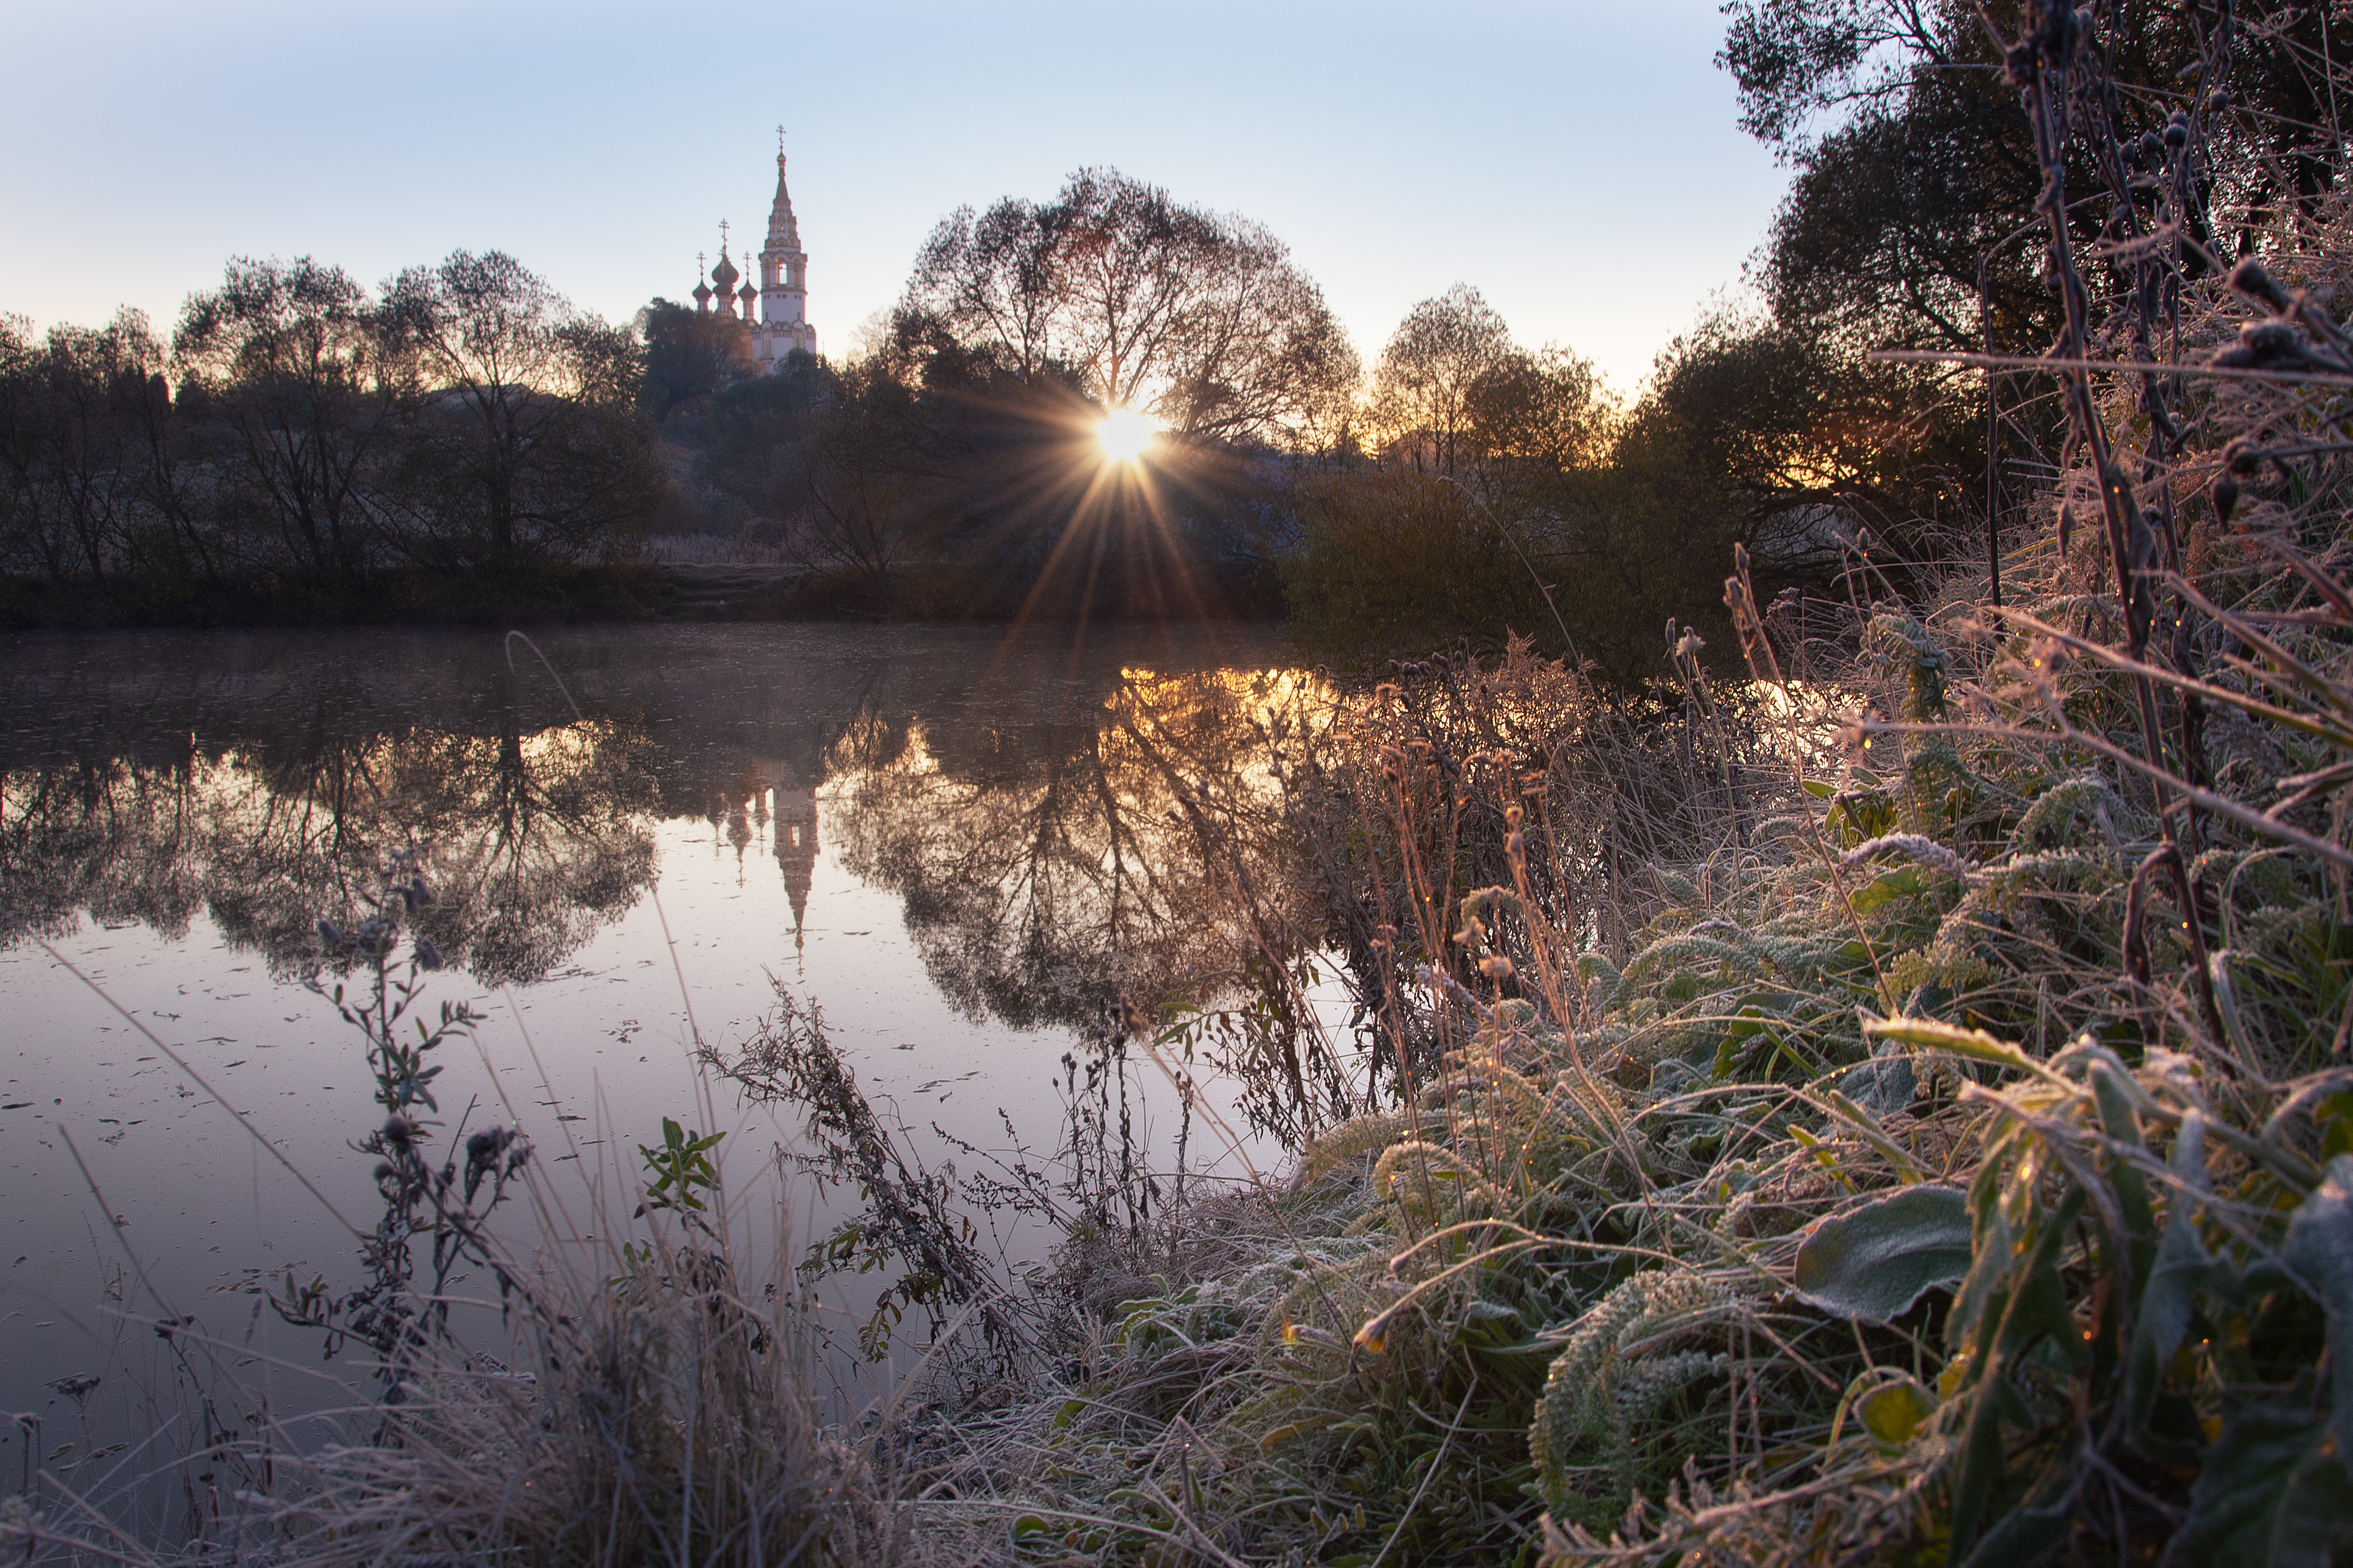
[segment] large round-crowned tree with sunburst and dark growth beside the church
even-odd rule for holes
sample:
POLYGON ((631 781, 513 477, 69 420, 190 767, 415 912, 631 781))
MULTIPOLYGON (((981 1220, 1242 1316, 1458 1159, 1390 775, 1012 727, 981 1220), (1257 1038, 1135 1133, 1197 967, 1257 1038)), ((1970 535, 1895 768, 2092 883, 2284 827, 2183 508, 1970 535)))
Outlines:
POLYGON ((835 364, 751 374, 739 322, 671 301, 640 324, 680 454, 666 517, 885 614, 1275 609, 1299 470, 1360 371, 1273 235, 1111 169, 951 214, 835 364), (1096 447, 1108 407, 1162 428, 1141 473, 1096 447))

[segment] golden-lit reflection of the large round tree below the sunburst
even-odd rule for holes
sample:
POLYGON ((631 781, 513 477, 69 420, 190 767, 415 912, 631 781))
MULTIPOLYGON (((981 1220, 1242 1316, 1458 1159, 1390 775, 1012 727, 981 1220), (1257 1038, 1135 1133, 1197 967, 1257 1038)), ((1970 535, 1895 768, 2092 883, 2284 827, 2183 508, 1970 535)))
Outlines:
POLYGON ((1264 719, 1297 696, 1285 675, 1127 672, 1099 705, 1019 726, 852 726, 828 757, 842 858, 904 898, 932 983, 972 1018, 1214 999, 1313 933, 1261 832, 1264 719))

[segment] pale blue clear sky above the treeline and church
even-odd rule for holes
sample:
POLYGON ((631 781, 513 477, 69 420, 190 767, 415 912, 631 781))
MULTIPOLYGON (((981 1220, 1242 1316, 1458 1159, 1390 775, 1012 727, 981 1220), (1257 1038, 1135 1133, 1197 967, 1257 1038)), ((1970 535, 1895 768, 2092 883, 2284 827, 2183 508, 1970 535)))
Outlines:
POLYGON ((0 0, 0 310, 169 329, 228 256, 504 249, 621 320, 765 230, 776 125, 840 355, 960 205, 1111 165, 1292 247, 1367 364, 1454 282, 1633 393, 1786 172, 1713 0, 0 0))

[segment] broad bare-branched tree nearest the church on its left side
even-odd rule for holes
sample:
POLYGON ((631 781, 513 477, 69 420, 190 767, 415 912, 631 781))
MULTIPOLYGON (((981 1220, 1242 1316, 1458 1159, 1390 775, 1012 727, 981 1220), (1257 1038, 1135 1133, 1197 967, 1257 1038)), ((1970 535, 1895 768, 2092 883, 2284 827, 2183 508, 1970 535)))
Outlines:
POLYGON ((664 470, 626 327, 501 252, 400 273, 384 320, 419 386, 400 475, 409 555, 506 571, 631 545, 664 470))

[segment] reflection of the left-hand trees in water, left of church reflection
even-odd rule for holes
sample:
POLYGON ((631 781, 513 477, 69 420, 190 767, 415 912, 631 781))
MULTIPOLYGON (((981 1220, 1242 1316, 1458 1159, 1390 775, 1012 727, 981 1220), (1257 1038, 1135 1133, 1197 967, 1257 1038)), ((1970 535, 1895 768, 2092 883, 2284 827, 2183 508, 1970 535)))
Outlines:
POLYGON ((318 917, 355 917, 391 849, 414 849, 440 903, 424 929, 482 983, 534 980, 652 882, 642 731, 282 733, 179 759, 0 773, 0 945, 80 912, 184 936, 209 910, 287 976, 318 917))

